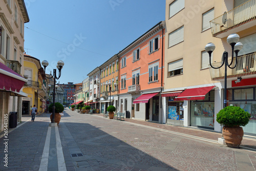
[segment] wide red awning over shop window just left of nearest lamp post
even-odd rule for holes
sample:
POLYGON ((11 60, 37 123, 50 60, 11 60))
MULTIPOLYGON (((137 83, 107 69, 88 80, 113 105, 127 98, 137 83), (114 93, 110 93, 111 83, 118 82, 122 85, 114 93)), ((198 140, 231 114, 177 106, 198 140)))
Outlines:
POLYGON ((215 86, 186 89, 175 100, 203 100, 205 95, 215 86))

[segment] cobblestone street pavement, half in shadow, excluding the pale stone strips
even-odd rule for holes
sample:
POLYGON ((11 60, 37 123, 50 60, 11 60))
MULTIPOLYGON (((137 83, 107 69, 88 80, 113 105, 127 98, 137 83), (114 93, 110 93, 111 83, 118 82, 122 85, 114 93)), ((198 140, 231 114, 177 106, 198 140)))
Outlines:
MULTIPOLYGON (((38 170, 50 114, 23 117, 8 134, 8 167, 0 138, 0 170, 38 170), (26 122, 26 123, 24 123, 26 122)), ((58 125, 67 170, 255 170, 256 153, 220 145, 221 134, 180 126, 102 115, 78 114, 67 108, 58 125), (217 138, 217 139, 216 139, 217 138)), ((244 146, 254 147, 245 138, 244 146)), ((56 163, 57 164, 57 163, 56 163)), ((50 170, 48 168, 48 170, 50 170)))

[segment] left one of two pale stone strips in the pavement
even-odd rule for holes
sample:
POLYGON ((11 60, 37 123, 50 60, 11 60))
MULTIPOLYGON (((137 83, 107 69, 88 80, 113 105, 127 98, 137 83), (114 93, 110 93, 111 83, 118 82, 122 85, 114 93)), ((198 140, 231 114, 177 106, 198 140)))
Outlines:
POLYGON ((50 138, 51 138, 51 126, 48 127, 46 142, 44 151, 42 152, 41 163, 39 167, 39 171, 46 171, 48 169, 48 158, 49 158, 49 150, 50 150, 50 138))

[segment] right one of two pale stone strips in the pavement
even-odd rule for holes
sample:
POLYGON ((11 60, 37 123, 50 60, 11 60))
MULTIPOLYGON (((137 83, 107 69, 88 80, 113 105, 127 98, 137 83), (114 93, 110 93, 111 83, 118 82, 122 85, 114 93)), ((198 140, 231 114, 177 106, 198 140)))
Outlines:
POLYGON ((56 148, 57 148, 57 159, 58 159, 58 170, 67 171, 65 158, 62 151, 61 141, 59 137, 58 126, 55 127, 55 135, 56 135, 56 148))

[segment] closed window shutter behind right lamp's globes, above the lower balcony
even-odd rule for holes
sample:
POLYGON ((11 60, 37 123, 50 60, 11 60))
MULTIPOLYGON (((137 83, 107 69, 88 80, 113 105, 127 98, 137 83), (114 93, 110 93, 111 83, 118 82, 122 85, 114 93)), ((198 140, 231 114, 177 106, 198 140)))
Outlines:
POLYGON ((256 33, 246 37, 242 37, 239 40, 243 44, 243 49, 238 52, 238 55, 245 55, 248 53, 256 52, 256 33))

